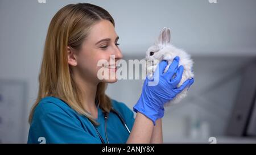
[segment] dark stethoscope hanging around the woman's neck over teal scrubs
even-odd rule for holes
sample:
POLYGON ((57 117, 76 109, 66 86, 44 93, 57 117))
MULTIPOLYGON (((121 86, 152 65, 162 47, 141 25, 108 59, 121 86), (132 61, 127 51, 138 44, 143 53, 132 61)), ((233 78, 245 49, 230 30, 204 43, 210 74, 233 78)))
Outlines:
MULTIPOLYGON (((127 127, 126 125, 126 122, 125 120, 122 118, 122 116, 119 114, 118 111, 114 110, 114 108, 111 108, 110 112, 113 112, 115 115, 118 116, 118 118, 121 120, 122 124, 125 126, 126 130, 129 132, 129 134, 131 133, 129 128, 127 127)), ((108 115, 109 115, 109 112, 104 112, 104 119, 105 119, 105 136, 106 136, 106 141, 107 143, 109 144, 109 139, 108 139, 108 134, 107 134, 107 131, 106 131, 106 127, 107 127, 107 120, 108 120, 108 115)), ((97 135, 100 137, 101 139, 101 143, 102 144, 106 144, 105 141, 103 140, 102 136, 100 135, 100 132, 98 132, 98 129, 93 125, 93 127, 96 129, 96 132, 97 132, 97 135)))

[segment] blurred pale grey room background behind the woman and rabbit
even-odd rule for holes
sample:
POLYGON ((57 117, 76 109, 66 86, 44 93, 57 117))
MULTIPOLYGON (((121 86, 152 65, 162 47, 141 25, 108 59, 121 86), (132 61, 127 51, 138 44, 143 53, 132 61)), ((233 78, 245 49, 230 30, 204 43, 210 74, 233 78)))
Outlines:
MULTIPOLYGON (((0 143, 27 143, 49 22, 78 2, 109 11, 125 60, 144 58, 163 27, 192 56, 195 83, 166 108, 164 143, 256 143, 254 0, 0 0, 0 143)), ((132 109, 142 84, 122 79, 106 93, 132 109)))

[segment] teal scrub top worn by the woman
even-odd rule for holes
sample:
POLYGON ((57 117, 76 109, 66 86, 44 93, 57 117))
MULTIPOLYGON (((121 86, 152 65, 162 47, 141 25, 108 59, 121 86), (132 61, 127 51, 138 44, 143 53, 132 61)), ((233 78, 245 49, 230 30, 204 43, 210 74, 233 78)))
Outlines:
MULTIPOLYGON (((134 124, 134 113, 125 103, 112 99, 112 106, 125 120, 130 129, 134 124)), ((96 126, 106 143, 104 113, 98 107, 100 125, 96 126)), ((110 112, 107 120, 109 143, 126 143, 129 132, 116 114, 110 112)), ((78 114, 67 103, 56 97, 46 97, 36 106, 27 143, 101 143, 93 124, 78 114)))

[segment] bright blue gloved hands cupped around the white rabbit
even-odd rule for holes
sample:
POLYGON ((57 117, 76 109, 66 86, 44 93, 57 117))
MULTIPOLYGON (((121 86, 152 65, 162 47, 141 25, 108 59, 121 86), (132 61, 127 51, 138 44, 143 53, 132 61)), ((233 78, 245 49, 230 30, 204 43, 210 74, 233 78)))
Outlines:
POLYGON ((174 99, 185 87, 191 86, 194 82, 193 78, 187 79, 180 87, 177 87, 183 74, 183 66, 179 66, 179 57, 175 57, 167 72, 163 73, 166 66, 167 61, 161 61, 154 72, 153 78, 148 79, 146 77, 141 97, 133 107, 135 112, 139 111, 147 118, 150 118, 154 125, 157 119, 163 118, 164 103, 174 99), (153 81, 158 81, 158 83, 156 85, 148 85, 149 82, 153 81))

